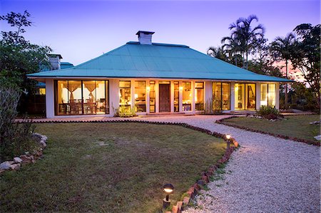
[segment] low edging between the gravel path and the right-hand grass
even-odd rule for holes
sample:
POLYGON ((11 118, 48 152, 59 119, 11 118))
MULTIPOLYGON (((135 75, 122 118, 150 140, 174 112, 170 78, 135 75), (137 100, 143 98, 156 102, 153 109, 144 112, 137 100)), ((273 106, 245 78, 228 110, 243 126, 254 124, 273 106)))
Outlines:
MULTIPOLYGON (((292 116, 292 115, 290 115, 290 116, 292 116)), ((294 141, 297 141, 297 142, 304 142, 304 143, 306 143, 308 145, 316 145, 316 146, 319 146, 319 147, 321 145, 321 142, 317 142, 317 141, 313 141, 313 140, 305 140, 305 139, 300 139, 300 138, 297 138, 297 137, 290 137, 290 136, 286 136, 286 135, 268 133, 268 132, 265 132, 263 130, 254 130, 254 129, 245 128, 245 127, 239 126, 239 125, 234 125, 234 124, 230 124, 230 123, 224 123, 225 120, 228 120, 230 118, 239 118, 239 117, 238 116, 232 116, 232 117, 229 117, 229 118, 222 118, 220 120, 216 120, 215 123, 227 125, 227 126, 230 126, 230 127, 233 127, 233 128, 239 128, 239 129, 242 129, 242 130, 248 130, 248 131, 253 132, 253 133, 262 133, 262 134, 265 134, 265 135, 271 135, 271 136, 274 136, 274 137, 280 137, 280 138, 285 139, 285 140, 294 140, 294 141)))

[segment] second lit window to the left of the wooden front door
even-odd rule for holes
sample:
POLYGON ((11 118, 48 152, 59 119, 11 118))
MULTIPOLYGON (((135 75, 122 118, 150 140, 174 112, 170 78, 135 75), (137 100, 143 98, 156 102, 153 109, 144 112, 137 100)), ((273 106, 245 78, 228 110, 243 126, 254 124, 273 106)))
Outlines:
POLYGON ((146 81, 135 81, 135 107, 136 113, 146 112, 146 81))

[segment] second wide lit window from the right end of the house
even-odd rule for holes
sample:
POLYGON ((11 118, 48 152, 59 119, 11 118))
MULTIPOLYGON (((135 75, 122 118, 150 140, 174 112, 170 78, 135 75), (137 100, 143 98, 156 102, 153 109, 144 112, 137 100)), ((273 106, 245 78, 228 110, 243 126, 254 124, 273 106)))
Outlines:
POLYGON ((255 110, 255 83, 235 83, 235 110, 255 110))

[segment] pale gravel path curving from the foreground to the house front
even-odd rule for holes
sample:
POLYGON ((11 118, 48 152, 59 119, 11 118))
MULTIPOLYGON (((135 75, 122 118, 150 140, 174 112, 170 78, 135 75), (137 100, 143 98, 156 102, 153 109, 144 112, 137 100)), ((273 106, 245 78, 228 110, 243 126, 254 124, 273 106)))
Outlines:
POLYGON ((221 180, 210 182, 210 189, 196 198, 196 207, 184 212, 320 212, 320 147, 214 123, 225 117, 130 118, 188 123, 230 133, 240 143, 221 180))

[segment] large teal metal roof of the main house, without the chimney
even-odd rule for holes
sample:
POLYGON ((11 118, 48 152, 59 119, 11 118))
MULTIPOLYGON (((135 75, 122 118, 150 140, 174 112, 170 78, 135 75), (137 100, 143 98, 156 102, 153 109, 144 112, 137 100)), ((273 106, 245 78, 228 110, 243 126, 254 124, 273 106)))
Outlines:
POLYGON ((28 75, 31 78, 180 78, 210 80, 292 81, 259 75, 185 45, 130 41, 72 68, 28 75))

